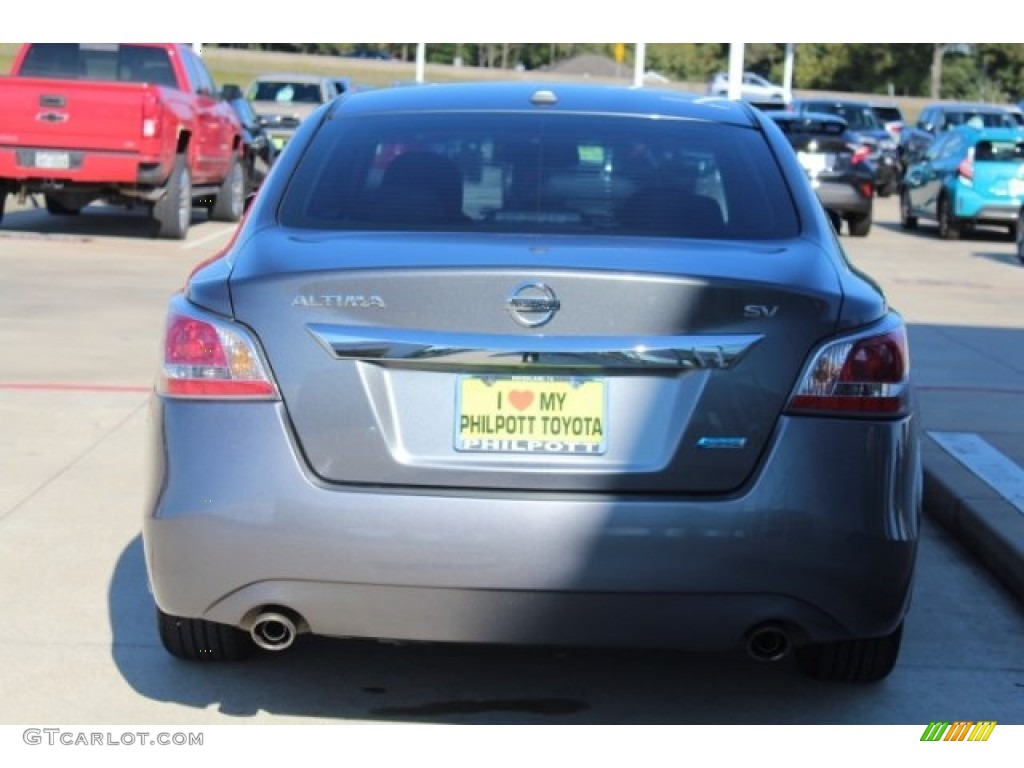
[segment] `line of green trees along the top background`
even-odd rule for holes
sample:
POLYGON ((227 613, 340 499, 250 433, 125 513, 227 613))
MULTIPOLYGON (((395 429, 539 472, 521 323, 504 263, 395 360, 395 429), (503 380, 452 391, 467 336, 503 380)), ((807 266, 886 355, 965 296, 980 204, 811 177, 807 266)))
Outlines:
MULTIPOLYGON (((410 61, 414 43, 215 44, 319 55, 386 54, 410 61)), ((613 57, 614 43, 429 43, 430 63, 538 70, 583 53, 613 57)), ((625 46, 632 66, 634 46, 625 46)), ((648 43, 646 67, 672 80, 703 82, 728 69, 728 43, 648 43)), ((784 43, 746 43, 744 69, 781 82, 784 43)), ((1024 98, 1024 44, 798 43, 794 87, 894 96, 1018 101, 1024 98)))

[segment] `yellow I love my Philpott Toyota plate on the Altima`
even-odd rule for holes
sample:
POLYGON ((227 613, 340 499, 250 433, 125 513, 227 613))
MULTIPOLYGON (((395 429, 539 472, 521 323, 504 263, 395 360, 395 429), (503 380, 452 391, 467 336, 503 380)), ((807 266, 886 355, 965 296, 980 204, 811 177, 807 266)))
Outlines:
POLYGON ((462 376, 456 451, 601 455, 607 383, 596 378, 462 376))

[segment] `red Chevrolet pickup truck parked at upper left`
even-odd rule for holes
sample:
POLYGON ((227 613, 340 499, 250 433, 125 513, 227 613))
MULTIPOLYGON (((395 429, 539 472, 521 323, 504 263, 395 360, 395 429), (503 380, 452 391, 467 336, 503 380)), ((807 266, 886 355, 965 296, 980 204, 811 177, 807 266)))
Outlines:
POLYGON ((242 125, 200 56, 176 43, 26 43, 0 78, 0 220, 7 195, 50 213, 148 208, 183 239, 193 207, 238 221, 242 125))

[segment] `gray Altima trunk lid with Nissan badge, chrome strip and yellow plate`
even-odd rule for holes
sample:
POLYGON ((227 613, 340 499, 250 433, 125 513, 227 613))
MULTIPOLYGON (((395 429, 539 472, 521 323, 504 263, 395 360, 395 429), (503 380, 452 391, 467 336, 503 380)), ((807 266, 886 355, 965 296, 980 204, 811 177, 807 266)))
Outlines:
POLYGON ((338 483, 733 490, 841 304, 802 241, 260 243, 236 313, 302 455, 338 483))

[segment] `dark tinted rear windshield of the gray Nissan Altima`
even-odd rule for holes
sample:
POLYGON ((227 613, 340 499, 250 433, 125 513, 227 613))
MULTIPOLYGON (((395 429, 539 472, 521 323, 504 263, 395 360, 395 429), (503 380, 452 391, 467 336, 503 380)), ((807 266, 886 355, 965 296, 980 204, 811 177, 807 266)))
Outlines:
POLYGON ((328 121, 280 213, 287 226, 317 229, 757 240, 799 232, 760 132, 593 115, 328 121))

